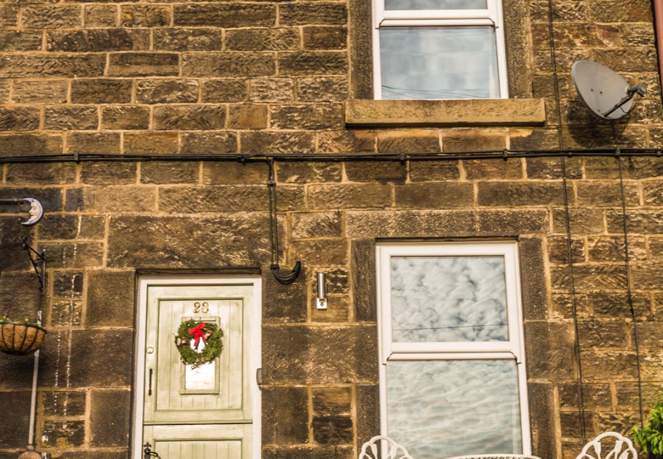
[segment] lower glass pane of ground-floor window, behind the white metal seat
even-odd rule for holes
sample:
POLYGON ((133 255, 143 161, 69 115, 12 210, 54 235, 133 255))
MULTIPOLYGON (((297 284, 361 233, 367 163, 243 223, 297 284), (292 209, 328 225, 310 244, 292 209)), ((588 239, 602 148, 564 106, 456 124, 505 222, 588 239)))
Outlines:
POLYGON ((516 362, 387 362, 387 428, 417 459, 522 454, 516 362))

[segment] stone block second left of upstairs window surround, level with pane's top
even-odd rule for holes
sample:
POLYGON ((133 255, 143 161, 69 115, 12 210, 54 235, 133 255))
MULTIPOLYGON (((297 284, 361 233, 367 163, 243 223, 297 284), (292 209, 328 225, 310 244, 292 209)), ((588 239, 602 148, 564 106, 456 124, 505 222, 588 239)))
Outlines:
POLYGON ((225 33, 225 47, 234 51, 280 51, 299 49, 295 28, 236 29, 225 33))

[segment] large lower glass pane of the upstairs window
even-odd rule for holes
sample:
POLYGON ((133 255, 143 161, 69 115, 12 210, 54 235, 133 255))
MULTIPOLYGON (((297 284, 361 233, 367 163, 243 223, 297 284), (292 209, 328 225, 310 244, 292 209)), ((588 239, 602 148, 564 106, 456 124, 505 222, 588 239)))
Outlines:
POLYGON ((499 98, 492 26, 380 29, 383 99, 499 98))

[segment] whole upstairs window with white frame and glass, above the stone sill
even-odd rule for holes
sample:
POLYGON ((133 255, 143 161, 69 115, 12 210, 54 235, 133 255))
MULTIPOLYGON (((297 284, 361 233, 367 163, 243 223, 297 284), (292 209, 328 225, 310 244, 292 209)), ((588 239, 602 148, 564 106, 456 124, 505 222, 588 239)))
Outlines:
POLYGON ((376 99, 508 98, 501 0, 373 0, 376 99))

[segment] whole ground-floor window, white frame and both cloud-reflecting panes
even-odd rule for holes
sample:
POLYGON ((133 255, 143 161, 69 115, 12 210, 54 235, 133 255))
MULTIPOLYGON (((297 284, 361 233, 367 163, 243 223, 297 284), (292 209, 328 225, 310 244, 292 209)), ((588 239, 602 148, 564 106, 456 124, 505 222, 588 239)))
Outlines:
POLYGON ((381 429, 418 459, 530 454, 515 241, 377 245, 381 429))

